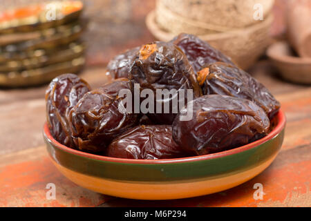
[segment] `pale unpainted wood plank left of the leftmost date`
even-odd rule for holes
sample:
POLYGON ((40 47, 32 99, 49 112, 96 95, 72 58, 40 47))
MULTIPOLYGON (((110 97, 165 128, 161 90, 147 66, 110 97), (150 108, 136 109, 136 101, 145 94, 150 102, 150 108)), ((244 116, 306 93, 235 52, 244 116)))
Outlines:
POLYGON ((45 120, 44 99, 1 105, 0 155, 41 146, 45 120))

